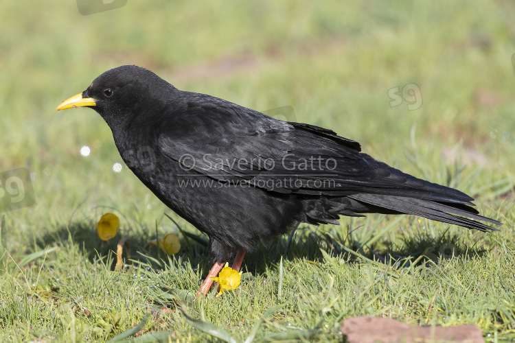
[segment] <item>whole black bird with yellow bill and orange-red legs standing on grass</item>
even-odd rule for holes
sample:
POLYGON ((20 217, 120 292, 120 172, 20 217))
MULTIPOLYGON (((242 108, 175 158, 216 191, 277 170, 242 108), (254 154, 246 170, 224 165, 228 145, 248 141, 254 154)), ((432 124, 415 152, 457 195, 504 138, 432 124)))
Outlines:
POLYGON ((56 110, 91 107, 106 121, 126 165, 164 204, 211 240, 211 286, 231 254, 299 223, 340 215, 410 214, 483 232, 461 191, 404 174, 355 141, 306 123, 280 121, 209 95, 180 91, 155 73, 122 66, 98 76, 56 110))

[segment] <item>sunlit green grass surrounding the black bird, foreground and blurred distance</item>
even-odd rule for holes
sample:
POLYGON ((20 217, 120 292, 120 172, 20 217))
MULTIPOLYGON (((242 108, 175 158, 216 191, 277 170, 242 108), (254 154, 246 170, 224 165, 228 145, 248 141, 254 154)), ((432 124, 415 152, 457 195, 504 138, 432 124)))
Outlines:
POLYGON ((128 1, 81 16, 76 1, 7 0, 1 9, 0 171, 27 167, 36 204, 4 213, 0 341, 104 342, 143 318, 141 337, 162 342, 166 332, 215 340, 202 329, 238 342, 251 332, 256 341, 335 341, 341 320, 360 315, 470 323, 487 342, 515 340, 512 3, 128 1), (301 226, 287 251, 285 236, 247 255, 239 289, 192 303, 186 294, 207 274, 208 250, 163 214, 203 235, 126 167, 112 171, 122 160, 100 116, 54 112, 120 64, 257 110, 292 106, 297 121, 470 193, 504 226, 483 234, 382 215, 301 226), (422 106, 391 108, 388 90, 410 83, 422 106), (80 156, 83 145, 90 156, 80 156), (121 228, 102 243, 96 222, 108 211, 121 228), (144 248, 170 232, 183 246, 174 257, 144 248), (114 271, 122 237, 130 259, 114 271))

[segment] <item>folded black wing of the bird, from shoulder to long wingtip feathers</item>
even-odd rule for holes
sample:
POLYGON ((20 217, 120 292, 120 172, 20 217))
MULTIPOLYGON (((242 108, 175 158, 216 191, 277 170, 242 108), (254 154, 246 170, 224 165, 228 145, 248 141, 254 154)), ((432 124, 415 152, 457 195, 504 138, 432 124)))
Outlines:
POLYGON ((389 167, 332 130, 279 121, 214 97, 198 95, 181 113, 167 116, 158 145, 185 171, 280 193, 375 193, 461 204, 473 200, 389 167))

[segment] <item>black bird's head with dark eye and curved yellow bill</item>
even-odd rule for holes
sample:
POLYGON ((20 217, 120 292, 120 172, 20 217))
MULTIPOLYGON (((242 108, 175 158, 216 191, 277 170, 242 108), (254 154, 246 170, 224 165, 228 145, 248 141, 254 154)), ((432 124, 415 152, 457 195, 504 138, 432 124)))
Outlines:
POLYGON ((147 69, 124 65, 102 73, 82 93, 66 99, 56 110, 89 107, 97 111, 111 128, 157 108, 159 99, 170 97, 174 86, 147 69))

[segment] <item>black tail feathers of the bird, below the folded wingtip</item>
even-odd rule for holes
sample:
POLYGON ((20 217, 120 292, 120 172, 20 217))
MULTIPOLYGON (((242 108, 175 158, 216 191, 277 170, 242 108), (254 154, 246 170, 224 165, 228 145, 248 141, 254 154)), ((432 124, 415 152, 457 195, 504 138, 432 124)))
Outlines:
POLYGON ((431 200, 368 193, 354 194, 349 196, 349 198, 357 200, 358 202, 380 206, 392 211, 418 215, 420 217, 428 218, 431 220, 437 220, 438 222, 455 224, 483 232, 498 230, 483 223, 477 222, 476 220, 490 222, 496 225, 502 225, 502 223, 497 220, 478 215, 477 211, 470 208, 469 206, 464 205, 454 206, 454 204, 442 204, 431 200))

